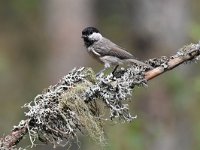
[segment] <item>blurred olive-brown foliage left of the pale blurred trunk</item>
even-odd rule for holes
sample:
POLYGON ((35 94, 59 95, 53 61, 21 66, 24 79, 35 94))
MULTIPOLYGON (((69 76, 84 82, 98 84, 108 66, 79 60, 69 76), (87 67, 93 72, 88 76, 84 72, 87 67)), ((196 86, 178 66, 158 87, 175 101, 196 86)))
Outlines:
POLYGON ((42 5, 41 1, 0 2, 1 135, 23 117, 20 106, 47 82, 41 72, 47 57, 42 5))

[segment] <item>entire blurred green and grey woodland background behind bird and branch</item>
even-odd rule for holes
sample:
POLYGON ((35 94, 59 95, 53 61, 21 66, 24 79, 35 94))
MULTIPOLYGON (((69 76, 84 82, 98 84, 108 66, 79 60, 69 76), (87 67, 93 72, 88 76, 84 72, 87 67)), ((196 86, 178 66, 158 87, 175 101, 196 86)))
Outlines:
MULTIPOLYGON (((200 40, 199 0, 0 1, 0 135, 24 119, 21 106, 75 66, 98 64, 81 31, 104 36, 145 60, 200 40), (131 51, 134 50, 134 51, 131 51)), ((199 64, 178 67, 136 88, 129 124, 105 125, 108 150, 199 150, 199 64)), ((102 149, 80 135, 80 149, 102 149)), ((20 143, 26 147, 28 137, 20 143)), ((53 149, 40 145, 37 150, 53 149)), ((66 149, 66 148, 57 148, 66 149)), ((70 149, 78 149, 76 144, 70 149)))

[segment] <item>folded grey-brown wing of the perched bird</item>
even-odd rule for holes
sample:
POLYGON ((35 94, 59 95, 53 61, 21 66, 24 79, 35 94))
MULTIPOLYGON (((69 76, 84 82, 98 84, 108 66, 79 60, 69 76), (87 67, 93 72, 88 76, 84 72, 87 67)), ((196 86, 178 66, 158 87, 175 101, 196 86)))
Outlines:
POLYGON ((118 57, 120 59, 132 59, 132 58, 134 58, 132 54, 125 51, 124 49, 122 49, 121 47, 114 44, 113 42, 111 42, 108 39, 104 39, 103 41, 101 41, 101 43, 98 43, 96 45, 95 51, 99 55, 101 55, 102 57, 103 56, 115 56, 115 57, 118 57))

